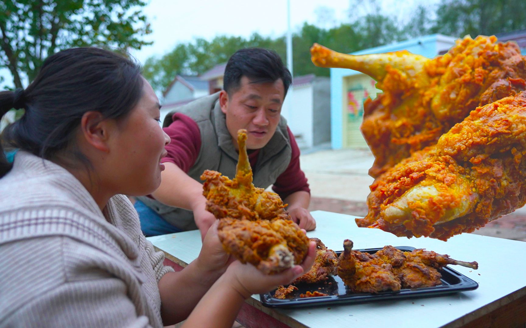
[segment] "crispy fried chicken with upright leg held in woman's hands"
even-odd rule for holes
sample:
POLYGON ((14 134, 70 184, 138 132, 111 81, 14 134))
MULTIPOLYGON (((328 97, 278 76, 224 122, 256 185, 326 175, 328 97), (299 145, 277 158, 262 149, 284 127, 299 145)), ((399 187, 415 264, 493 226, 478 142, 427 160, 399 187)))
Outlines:
POLYGON ((234 179, 209 170, 201 175, 206 209, 219 219, 219 239, 228 253, 264 273, 279 273, 304 260, 309 239, 277 194, 252 184, 246 140, 247 131, 239 130, 234 179))

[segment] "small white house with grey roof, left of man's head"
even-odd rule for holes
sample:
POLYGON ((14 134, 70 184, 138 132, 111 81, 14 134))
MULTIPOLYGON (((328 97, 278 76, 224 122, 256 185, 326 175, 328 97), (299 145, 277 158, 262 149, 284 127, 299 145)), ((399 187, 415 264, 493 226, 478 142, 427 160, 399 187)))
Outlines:
POLYGON ((161 122, 170 111, 189 103, 192 100, 208 96, 208 81, 198 76, 177 75, 163 92, 163 107, 161 107, 161 122))

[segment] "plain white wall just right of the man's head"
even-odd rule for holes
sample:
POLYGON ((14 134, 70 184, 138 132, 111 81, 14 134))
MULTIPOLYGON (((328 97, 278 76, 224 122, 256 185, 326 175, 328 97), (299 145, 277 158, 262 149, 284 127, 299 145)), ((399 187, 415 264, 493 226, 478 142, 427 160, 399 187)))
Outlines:
POLYGON ((295 87, 291 96, 291 105, 285 117, 290 131, 301 135, 298 139, 300 147, 312 147, 312 84, 295 87))

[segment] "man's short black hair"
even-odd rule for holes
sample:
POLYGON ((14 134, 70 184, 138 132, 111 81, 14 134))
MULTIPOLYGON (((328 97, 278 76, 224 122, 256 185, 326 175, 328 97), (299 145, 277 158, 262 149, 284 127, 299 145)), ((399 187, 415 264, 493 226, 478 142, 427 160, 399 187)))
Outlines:
POLYGON ((223 89, 228 94, 239 89, 241 77, 246 76, 250 83, 283 81, 285 95, 292 83, 289 70, 283 65, 275 51, 261 48, 247 48, 236 51, 228 60, 223 78, 223 89))

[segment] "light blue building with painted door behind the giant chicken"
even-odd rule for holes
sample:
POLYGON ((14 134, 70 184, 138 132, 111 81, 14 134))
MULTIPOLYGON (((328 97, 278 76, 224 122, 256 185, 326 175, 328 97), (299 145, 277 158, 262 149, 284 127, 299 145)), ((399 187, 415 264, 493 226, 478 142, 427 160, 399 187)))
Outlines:
MULTIPOLYGON (((433 58, 447 52, 454 45, 454 40, 453 37, 433 34, 352 52, 351 55, 408 50, 413 54, 433 58)), ((331 68, 330 83, 332 149, 368 148, 360 132, 360 124, 363 119, 363 101, 367 97, 374 99, 381 92, 375 87, 376 81, 359 71, 331 68)))

